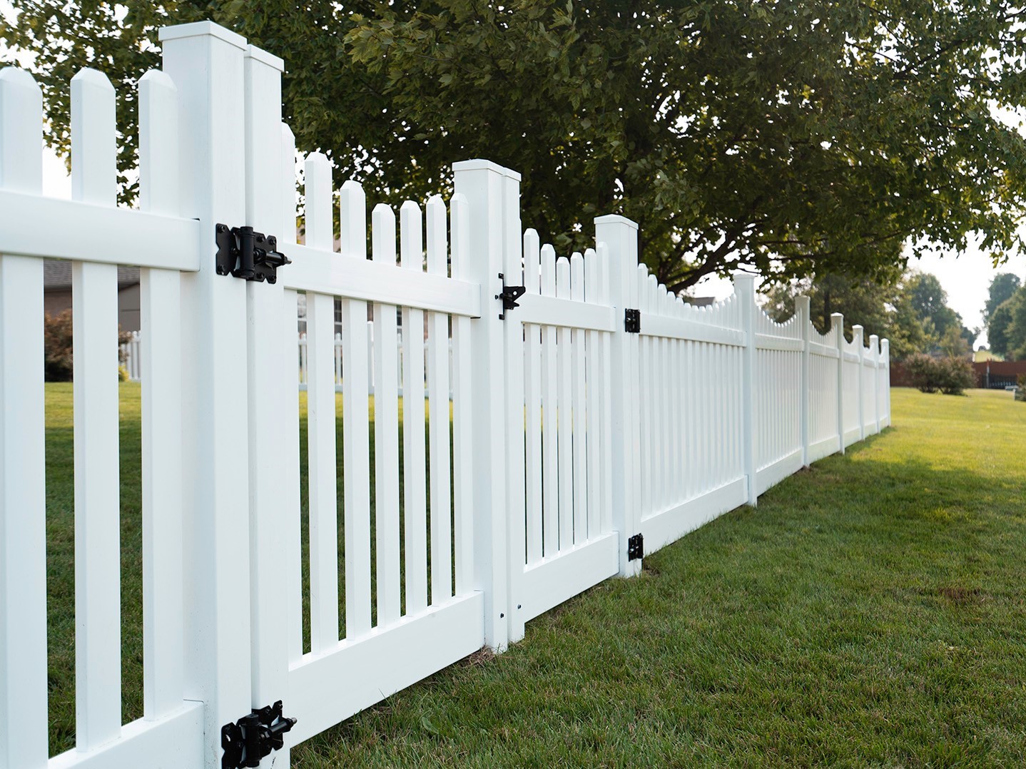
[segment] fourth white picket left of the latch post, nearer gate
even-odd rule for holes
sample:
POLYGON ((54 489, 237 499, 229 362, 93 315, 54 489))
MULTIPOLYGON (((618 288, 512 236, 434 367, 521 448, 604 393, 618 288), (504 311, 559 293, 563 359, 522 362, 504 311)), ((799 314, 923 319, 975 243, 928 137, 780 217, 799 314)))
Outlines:
MULTIPOLYGON (((379 203, 371 213, 374 261, 396 264, 395 212, 379 203)), ((378 624, 399 619, 399 360, 395 305, 374 303, 374 536, 378 624)))

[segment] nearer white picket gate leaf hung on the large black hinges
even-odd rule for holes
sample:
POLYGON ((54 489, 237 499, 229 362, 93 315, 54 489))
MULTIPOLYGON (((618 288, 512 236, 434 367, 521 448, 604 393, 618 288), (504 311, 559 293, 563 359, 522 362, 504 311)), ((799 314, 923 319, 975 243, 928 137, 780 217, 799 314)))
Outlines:
MULTIPOLYGON (((280 60, 250 49, 247 65, 247 99, 280 104, 280 60)), ((247 120, 247 164, 256 172, 247 176, 244 224, 283 234, 279 248, 291 259, 278 270, 276 284, 246 285, 254 452, 253 698, 254 704, 284 701, 285 715, 298 719, 286 738, 292 745, 484 643, 483 599, 474 590, 468 461, 474 420, 469 319, 480 315, 481 302, 478 285, 466 280, 465 200, 453 198, 450 213, 441 198, 428 201, 426 248, 420 206, 403 204, 399 264, 395 212, 376 206, 369 231, 372 259, 367 260, 364 194, 358 185, 346 183, 340 195, 341 253, 336 252, 331 169, 327 158, 315 153, 305 169, 306 242, 297 245, 289 237, 297 215, 291 133, 266 109, 254 109, 247 120), (307 307, 306 516, 300 505, 298 291, 306 293, 307 307), (342 299, 342 368, 353 373, 343 377, 341 445, 336 297, 342 299), (406 330, 402 366, 397 307, 406 330), (451 436, 450 319, 456 379, 451 436), (374 373, 372 442, 368 361, 374 373), (337 478, 339 467, 342 479, 337 478), (303 574, 309 575, 308 590, 303 574)), ((276 754, 277 761, 285 759, 276 754)))

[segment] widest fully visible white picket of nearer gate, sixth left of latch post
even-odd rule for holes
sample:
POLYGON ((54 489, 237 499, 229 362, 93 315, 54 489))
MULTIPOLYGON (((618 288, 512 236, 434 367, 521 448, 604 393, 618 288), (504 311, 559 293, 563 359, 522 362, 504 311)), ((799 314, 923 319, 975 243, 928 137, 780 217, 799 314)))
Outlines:
MULTIPOLYGON (((330 251, 331 167, 312 153, 306 167, 307 245, 330 251)), ((338 257, 337 257, 338 258, 338 257)), ((307 475, 310 537, 310 649, 339 641, 339 521, 334 404, 334 297, 307 293, 307 475)))

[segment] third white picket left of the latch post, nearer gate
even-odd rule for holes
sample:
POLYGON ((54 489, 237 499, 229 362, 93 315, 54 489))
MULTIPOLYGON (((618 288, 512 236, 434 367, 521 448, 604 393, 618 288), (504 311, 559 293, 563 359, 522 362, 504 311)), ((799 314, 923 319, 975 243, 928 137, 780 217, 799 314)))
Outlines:
MULTIPOLYGON (((421 208, 406 201, 399 209, 403 269, 424 270, 421 208)), ((428 605, 428 512, 425 483, 424 312, 402 309, 403 509, 405 515, 406 613, 428 605)))

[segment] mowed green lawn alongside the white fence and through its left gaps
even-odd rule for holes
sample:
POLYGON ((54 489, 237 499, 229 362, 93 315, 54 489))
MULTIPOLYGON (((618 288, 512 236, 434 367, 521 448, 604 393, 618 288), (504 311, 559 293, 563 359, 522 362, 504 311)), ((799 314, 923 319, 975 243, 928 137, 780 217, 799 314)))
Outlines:
MULTIPOLYGON (((48 388, 56 752, 73 744, 74 532, 70 390, 48 388)), ((1026 404, 896 390, 893 406, 883 435, 529 622, 505 654, 309 740, 293 766, 1026 764, 1026 404)), ((135 386, 122 415, 127 721, 142 701, 135 386)))

